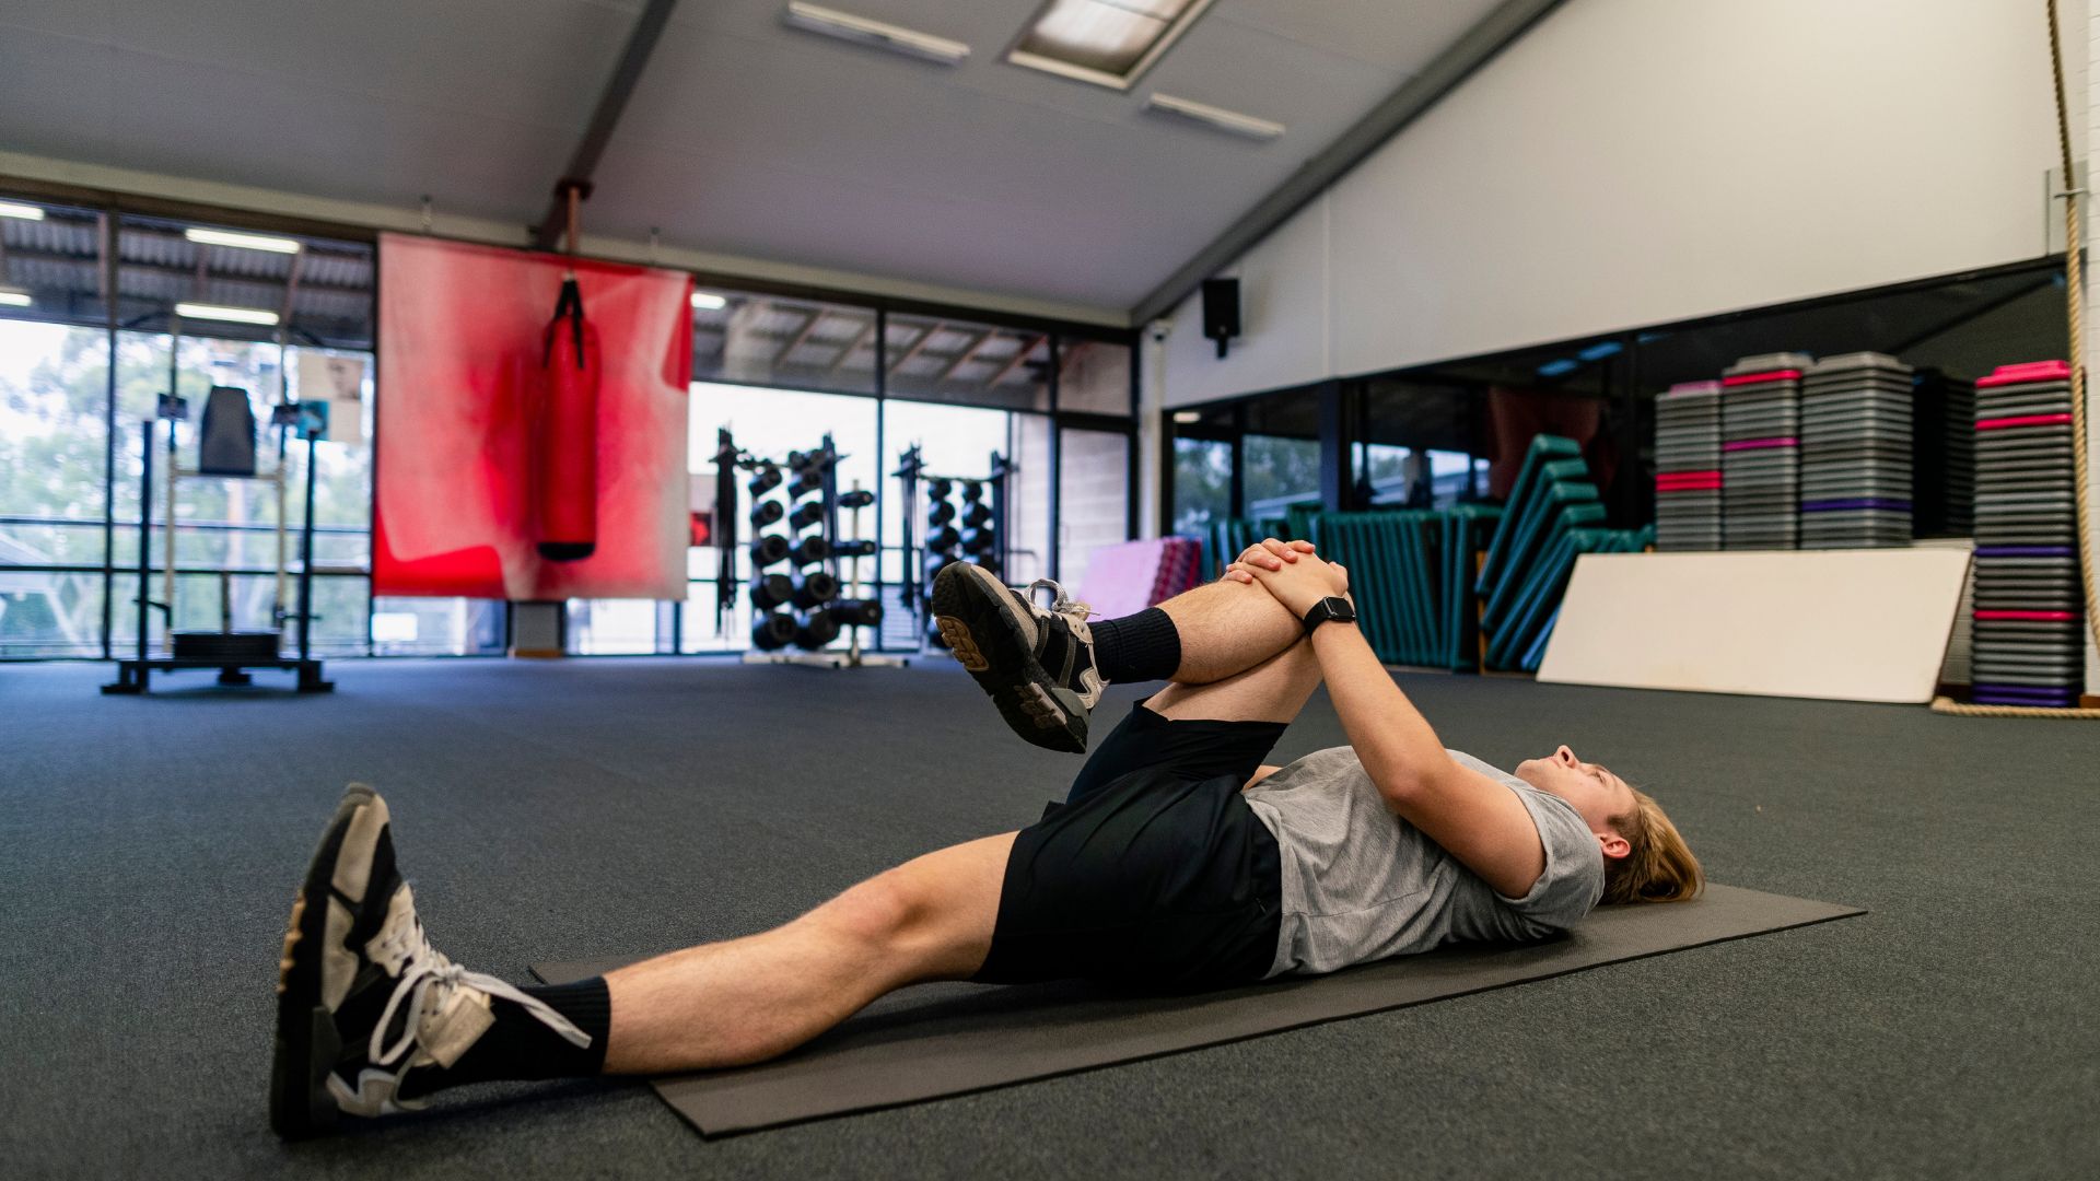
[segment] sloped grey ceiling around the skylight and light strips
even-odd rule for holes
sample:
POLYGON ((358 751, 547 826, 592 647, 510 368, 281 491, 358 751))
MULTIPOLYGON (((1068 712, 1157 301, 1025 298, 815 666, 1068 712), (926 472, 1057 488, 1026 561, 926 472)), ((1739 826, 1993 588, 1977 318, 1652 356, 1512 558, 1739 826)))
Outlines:
MULTIPOLYGON (((830 0, 960 67, 676 8, 586 229, 1128 309, 1497 0, 1218 0, 1130 92, 1000 61, 1037 0, 830 0), (1142 109, 1163 90, 1266 143, 1142 109)), ((0 149, 536 221, 640 0, 0 0, 0 149)))

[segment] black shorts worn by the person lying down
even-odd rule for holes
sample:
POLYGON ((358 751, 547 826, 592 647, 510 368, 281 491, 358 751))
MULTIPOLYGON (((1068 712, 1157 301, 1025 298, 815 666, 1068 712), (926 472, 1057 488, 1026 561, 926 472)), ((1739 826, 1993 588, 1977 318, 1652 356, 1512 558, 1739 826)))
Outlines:
POLYGON ((1268 975, 1281 864, 1239 790, 1283 729, 1132 706, 1071 796, 1014 838, 974 979, 1195 992, 1268 975))

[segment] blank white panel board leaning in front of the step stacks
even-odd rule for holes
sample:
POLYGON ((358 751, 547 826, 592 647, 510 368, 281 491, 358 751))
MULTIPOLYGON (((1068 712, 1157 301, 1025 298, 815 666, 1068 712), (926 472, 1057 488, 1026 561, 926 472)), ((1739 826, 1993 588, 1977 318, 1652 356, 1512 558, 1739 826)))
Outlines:
POLYGON ((1924 704, 1968 565, 1945 548, 1586 555, 1539 681, 1924 704))

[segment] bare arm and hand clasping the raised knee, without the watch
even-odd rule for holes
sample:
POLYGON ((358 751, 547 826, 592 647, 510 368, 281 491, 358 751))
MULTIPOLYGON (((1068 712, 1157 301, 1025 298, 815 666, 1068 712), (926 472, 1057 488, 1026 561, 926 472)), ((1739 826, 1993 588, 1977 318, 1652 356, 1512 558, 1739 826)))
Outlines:
MULTIPOLYGON (((1304 616, 1348 593, 1348 572, 1319 559, 1252 572, 1270 595, 1304 616)), ((1546 872, 1546 847, 1525 803, 1508 786, 1460 767, 1428 719, 1392 683, 1354 624, 1321 624, 1312 651, 1342 729, 1386 807, 1506 897, 1520 897, 1546 872)))

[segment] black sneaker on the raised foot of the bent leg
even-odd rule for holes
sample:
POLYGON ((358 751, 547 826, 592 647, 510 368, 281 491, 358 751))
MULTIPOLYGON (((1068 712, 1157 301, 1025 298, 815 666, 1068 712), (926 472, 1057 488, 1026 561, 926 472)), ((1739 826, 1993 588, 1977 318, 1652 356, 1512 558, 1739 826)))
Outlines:
POLYGON ((932 616, 956 660, 991 693, 1014 733, 1050 750, 1086 754, 1086 719, 1100 700, 1086 603, 1056 593, 1050 609, 983 565, 956 563, 932 584, 932 616))

